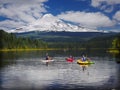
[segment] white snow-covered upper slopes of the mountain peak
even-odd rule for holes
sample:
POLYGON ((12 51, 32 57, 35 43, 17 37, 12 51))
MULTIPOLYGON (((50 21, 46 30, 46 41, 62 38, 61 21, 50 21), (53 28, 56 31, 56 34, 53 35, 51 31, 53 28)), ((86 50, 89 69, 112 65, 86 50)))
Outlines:
POLYGON ((17 28, 16 30, 11 30, 12 33, 22 33, 30 31, 67 31, 67 32, 98 32, 98 30, 88 29, 81 26, 66 23, 63 20, 51 15, 45 14, 40 19, 35 22, 17 28))

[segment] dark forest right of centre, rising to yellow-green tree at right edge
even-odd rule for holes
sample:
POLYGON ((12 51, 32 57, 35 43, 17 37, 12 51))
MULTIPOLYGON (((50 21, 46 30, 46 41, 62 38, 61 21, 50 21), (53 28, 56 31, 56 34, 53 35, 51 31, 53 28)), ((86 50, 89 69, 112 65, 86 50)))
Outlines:
MULTIPOLYGON (((77 38, 76 38, 77 39, 77 38)), ((78 38, 79 40, 79 38, 78 38)), ((120 33, 109 36, 98 36, 88 40, 77 42, 51 42, 49 47, 52 48, 68 48, 68 49, 104 49, 104 50, 119 50, 120 49, 120 33)))

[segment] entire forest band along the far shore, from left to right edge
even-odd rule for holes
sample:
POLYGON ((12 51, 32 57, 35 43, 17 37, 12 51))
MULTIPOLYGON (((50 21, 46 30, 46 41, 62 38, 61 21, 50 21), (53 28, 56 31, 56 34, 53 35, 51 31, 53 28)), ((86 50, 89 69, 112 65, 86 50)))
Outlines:
POLYGON ((105 49, 120 52, 120 33, 109 36, 98 36, 76 42, 47 42, 40 38, 17 37, 15 34, 0 30, 0 49, 105 49))

